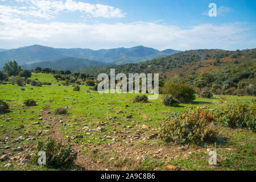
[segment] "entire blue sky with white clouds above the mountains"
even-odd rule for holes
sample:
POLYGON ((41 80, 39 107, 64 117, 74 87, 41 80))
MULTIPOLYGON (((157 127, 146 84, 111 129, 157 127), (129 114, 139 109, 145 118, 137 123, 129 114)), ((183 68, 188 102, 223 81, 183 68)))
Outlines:
POLYGON ((0 0, 0 48, 247 49, 256 1, 0 0), (217 16, 209 16, 210 3, 217 16))

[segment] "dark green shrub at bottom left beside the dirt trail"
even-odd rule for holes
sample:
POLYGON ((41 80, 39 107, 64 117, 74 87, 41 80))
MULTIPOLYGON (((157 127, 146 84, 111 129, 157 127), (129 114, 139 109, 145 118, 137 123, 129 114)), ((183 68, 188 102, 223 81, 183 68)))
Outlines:
POLYGON ((35 157, 32 160, 35 164, 38 164, 40 158, 39 151, 46 152, 47 168, 69 168, 77 158, 77 153, 72 152, 71 145, 62 145, 52 138, 48 138, 46 142, 38 141, 35 157))

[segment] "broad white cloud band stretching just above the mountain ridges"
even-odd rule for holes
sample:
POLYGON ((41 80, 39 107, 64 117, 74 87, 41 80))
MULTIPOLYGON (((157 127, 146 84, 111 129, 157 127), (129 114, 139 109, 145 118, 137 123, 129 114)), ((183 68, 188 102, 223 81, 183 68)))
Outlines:
MULTIPOLYGON (((43 44, 52 47, 114 48, 148 46, 180 50, 197 48, 235 49, 244 38, 240 23, 201 24, 182 29, 158 23, 115 24, 32 23, 0 15, 0 42, 12 47, 43 44)), ((255 46, 255 45, 254 45, 255 46)), ((3 47, 3 45, 0 45, 3 47)), ((248 47, 246 47, 248 48, 248 47)))

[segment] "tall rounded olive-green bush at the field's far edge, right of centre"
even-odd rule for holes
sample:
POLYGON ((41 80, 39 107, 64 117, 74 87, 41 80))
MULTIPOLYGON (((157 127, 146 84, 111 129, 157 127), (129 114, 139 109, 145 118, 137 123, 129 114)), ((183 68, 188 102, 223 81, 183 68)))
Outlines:
POLYGON ((164 94, 172 95, 181 103, 188 103, 195 100, 195 90, 192 86, 185 84, 182 81, 168 81, 163 87, 164 94))

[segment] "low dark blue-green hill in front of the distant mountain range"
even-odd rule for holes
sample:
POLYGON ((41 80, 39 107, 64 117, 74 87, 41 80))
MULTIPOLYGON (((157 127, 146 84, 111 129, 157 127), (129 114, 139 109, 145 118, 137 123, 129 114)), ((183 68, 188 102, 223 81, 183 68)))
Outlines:
POLYGON ((58 70, 68 69, 70 71, 74 71, 76 69, 106 66, 106 65, 113 65, 113 64, 101 63, 98 61, 92 61, 92 60, 82 59, 78 57, 65 57, 63 59, 58 59, 53 61, 43 61, 40 63, 22 65, 22 69, 35 69, 36 67, 41 67, 41 68, 52 68, 52 69, 58 69, 58 70))

